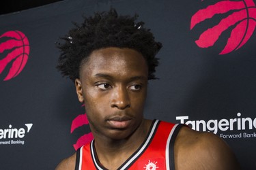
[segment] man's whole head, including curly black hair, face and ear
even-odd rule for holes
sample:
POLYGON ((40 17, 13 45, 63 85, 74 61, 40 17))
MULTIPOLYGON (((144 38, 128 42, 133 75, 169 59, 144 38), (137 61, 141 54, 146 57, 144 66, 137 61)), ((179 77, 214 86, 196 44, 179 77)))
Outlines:
POLYGON ((96 13, 59 45, 57 68, 74 81, 94 137, 124 139, 143 126, 147 80, 155 78, 161 44, 136 19, 113 9, 96 13))

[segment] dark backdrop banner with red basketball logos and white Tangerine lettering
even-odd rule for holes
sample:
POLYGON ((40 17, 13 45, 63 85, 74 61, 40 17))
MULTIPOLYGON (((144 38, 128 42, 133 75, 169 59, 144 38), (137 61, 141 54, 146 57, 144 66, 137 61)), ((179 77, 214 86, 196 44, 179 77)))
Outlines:
POLYGON ((1 169, 55 169, 91 140, 55 43, 83 16, 139 14, 163 48, 145 118, 222 137, 256 169, 256 0, 66 0, 0 16, 1 169))

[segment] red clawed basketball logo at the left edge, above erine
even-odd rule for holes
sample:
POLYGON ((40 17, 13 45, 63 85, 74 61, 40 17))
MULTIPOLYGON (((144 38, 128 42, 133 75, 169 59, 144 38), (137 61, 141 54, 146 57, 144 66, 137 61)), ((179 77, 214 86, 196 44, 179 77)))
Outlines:
POLYGON ((5 67, 11 63, 12 67, 4 81, 15 78, 25 67, 29 58, 29 40, 20 31, 8 31, 0 36, 0 39, 7 38, 0 44, 0 53, 4 51, 8 54, 0 60, 0 74, 5 67))

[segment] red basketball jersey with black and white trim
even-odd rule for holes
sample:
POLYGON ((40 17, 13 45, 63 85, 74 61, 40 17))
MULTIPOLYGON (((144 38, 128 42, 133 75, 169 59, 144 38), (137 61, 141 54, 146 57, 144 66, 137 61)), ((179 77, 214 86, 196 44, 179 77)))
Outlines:
MULTIPOLYGON (((173 148, 182 124, 154 120, 140 148, 118 169, 174 170, 173 148)), ((100 164, 94 140, 76 151, 76 170, 106 169, 100 164)))

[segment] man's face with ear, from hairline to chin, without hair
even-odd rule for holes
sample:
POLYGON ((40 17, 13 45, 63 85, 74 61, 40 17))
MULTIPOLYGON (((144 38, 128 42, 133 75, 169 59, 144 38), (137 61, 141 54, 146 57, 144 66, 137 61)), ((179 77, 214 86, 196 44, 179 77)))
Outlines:
POLYGON ((143 120, 147 95, 147 63, 129 48, 95 50, 76 80, 91 131, 99 137, 124 139, 143 120))

